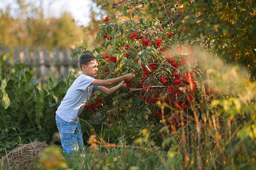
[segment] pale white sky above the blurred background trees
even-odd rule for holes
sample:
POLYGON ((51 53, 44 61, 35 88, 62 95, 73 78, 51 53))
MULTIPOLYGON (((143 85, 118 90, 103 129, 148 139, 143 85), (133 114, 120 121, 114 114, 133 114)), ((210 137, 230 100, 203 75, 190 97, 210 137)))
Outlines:
MULTIPOLYGON (((17 0, 16 0, 17 1, 17 0)), ((26 0, 33 2, 36 6, 42 3, 45 17, 60 17, 64 11, 68 11, 72 14, 76 20, 77 25, 88 25, 90 22, 90 8, 95 7, 95 4, 90 0, 26 0)), ((6 6, 11 5, 11 15, 16 17, 15 9, 18 8, 15 4, 15 0, 0 0, 0 9, 5 10, 6 6)))

